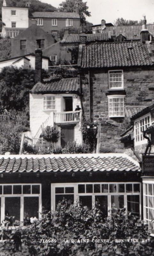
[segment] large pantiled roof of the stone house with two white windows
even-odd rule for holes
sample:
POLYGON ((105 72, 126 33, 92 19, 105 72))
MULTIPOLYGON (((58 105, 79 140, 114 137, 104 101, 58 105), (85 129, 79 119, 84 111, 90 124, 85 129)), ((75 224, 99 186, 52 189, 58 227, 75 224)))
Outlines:
POLYGON ((83 46, 82 68, 111 68, 152 65, 145 44, 139 41, 83 46))

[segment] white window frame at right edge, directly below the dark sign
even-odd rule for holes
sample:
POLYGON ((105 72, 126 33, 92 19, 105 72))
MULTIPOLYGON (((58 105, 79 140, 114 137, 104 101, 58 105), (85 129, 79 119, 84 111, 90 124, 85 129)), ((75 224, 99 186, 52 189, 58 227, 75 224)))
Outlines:
MULTIPOLYGON (((143 182, 143 220, 144 220, 144 224, 148 224, 148 227, 151 228, 150 227, 151 219, 149 217, 149 212, 152 212, 152 219, 154 219, 154 179, 144 178, 142 182, 143 182), (148 190, 149 185, 152 185, 152 195, 150 195, 148 190), (146 186, 147 186, 147 193, 146 193, 146 186), (148 206, 146 206, 146 197, 147 197, 148 206), (151 198, 151 200, 149 200, 149 198, 151 198), (152 207, 149 206, 149 201, 152 202, 152 207), (146 218, 147 217, 146 212, 148 214, 148 218, 146 218)), ((153 222, 153 229, 154 229, 154 222, 153 222)), ((151 235, 154 236, 153 233, 151 235)))

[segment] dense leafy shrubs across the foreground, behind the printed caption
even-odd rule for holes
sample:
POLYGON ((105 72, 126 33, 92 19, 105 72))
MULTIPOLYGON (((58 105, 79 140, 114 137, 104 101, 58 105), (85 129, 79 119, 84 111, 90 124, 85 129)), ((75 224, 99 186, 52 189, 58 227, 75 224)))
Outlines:
POLYGON ((114 205, 112 218, 104 218, 98 204, 89 210, 79 202, 71 204, 63 200, 55 212, 43 211, 42 220, 31 218, 30 221, 31 225, 16 227, 14 231, 9 230, 9 221, 6 223, 4 237, 13 242, 9 239, 1 244, 1 256, 154 255, 154 241, 148 235, 147 226, 139 217, 114 205), (142 242, 142 239, 149 241, 142 242))

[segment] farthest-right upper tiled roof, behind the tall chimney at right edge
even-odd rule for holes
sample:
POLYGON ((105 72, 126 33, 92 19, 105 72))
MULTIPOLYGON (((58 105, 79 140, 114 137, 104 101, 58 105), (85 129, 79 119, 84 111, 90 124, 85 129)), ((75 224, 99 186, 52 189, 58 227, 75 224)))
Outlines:
MULTIPOLYGON (((147 29, 154 36, 154 24, 147 24, 147 29)), ((116 37, 119 34, 122 34, 126 37, 127 40, 140 40, 140 33, 142 30, 142 25, 133 25, 133 26, 111 26, 106 27, 103 30, 103 33, 111 31, 111 35, 116 37)))

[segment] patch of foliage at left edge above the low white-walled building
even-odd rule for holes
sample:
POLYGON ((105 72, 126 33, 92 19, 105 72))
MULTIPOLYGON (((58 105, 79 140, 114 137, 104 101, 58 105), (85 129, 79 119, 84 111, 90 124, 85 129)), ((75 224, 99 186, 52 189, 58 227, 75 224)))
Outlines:
POLYGON ((8 59, 11 57, 11 38, 0 39, 0 60, 8 59))

